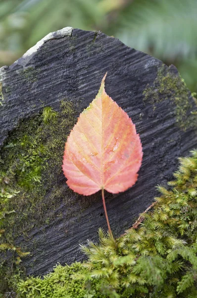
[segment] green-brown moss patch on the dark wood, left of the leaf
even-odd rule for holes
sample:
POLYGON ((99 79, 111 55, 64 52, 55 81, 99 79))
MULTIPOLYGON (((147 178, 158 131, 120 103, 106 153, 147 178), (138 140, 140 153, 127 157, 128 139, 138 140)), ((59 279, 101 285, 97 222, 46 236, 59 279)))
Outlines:
MULTIPOLYGON (((23 120, 0 151, 0 249, 17 252, 15 257, 25 250, 16 249, 17 236, 23 235, 29 241, 28 232, 49 223, 60 199, 69 197, 65 181, 59 180, 64 146, 75 115, 69 101, 61 101, 58 112, 46 107, 35 117, 23 120)), ((1 255, 0 266, 7 267, 8 272, 13 260, 4 260, 1 255)))

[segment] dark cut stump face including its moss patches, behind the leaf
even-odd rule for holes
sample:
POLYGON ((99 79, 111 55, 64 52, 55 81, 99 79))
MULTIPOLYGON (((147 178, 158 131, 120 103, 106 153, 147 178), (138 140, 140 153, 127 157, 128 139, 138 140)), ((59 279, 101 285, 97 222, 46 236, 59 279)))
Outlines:
POLYGON ((67 27, 2 67, 0 167, 3 187, 16 192, 5 237, 31 253, 23 259, 27 274, 82 260, 79 244, 107 229, 101 193, 74 193, 61 169, 67 136, 106 72, 105 90, 136 124, 144 152, 135 186, 106 193, 114 236, 153 202, 156 185, 173 179, 178 157, 197 146, 196 104, 177 69, 114 37, 67 27))

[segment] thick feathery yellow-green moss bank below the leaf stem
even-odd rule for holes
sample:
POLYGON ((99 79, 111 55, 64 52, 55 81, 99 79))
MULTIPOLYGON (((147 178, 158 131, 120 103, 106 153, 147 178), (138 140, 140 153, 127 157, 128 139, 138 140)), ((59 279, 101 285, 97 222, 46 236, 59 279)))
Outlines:
POLYGON ((196 298, 197 150, 180 158, 171 190, 158 187, 154 209, 138 228, 114 240, 99 230, 99 244, 82 246, 88 261, 21 280, 23 298, 196 298))

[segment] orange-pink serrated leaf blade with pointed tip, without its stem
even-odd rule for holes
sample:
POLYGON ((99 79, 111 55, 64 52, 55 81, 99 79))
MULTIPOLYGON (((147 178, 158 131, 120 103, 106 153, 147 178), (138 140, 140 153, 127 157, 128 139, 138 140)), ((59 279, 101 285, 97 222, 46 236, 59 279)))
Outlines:
POLYGON ((142 164, 142 144, 135 125, 106 94, 105 76, 65 145, 62 168, 67 184, 83 195, 100 189, 125 191, 136 183, 142 164))

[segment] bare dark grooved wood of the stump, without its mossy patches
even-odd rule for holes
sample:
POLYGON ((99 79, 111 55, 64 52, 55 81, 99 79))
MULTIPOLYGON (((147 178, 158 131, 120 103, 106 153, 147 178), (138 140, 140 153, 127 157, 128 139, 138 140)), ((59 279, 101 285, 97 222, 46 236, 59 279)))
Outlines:
MULTIPOLYGON (((164 76, 167 72, 172 79, 178 77, 178 72, 175 67, 163 66, 161 61, 127 47, 118 39, 79 29, 69 34, 53 34, 36 51, 29 53, 12 66, 0 69, 4 97, 0 106, 0 146, 19 120, 35 115, 45 106, 57 109, 63 97, 79 102, 79 116, 95 98, 101 78, 108 72, 105 90, 136 124, 144 151, 136 185, 124 193, 106 194, 111 228, 118 236, 153 202, 158 195, 155 186, 166 185, 172 179, 178 157, 197 147, 196 128, 191 125, 184 130, 177 122, 177 107, 172 98, 176 94, 172 90, 158 92, 154 105, 145 98, 148 87, 157 92, 155 79, 160 69, 164 76), (27 79, 22 72, 29 67, 36 73, 35 81, 27 79)), ((190 109, 194 109, 189 91, 188 98, 190 109)), ((63 176, 59 183, 66 188, 63 176)), ((27 274, 44 274, 58 262, 70 264, 82 260, 79 244, 86 243, 87 239, 96 241, 99 227, 106 230, 101 194, 76 199, 73 193, 73 202, 70 202, 73 217, 67 218, 62 201, 54 211, 62 214, 61 219, 56 217, 44 231, 42 227, 29 231, 31 241, 27 243, 27 250, 32 254, 23 259, 27 274), (90 201, 90 205, 78 217, 84 200, 90 201), (35 249, 34 241, 37 242, 35 249)), ((16 239, 18 245, 25 241, 22 235, 16 239)))

